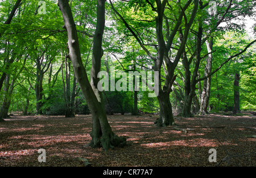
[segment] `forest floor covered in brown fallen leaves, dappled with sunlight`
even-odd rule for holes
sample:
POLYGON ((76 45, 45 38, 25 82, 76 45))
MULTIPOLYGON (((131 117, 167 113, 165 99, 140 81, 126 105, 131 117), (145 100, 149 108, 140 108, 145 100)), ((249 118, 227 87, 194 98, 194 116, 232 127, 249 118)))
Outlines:
POLYGON ((177 117, 176 125, 155 127, 158 115, 108 115, 115 134, 126 136, 127 146, 105 152, 83 148, 90 142, 91 115, 12 116, 0 122, 0 166, 82 167, 212 167, 256 166, 256 117, 196 115, 177 117), (183 130, 182 130, 183 129, 183 130), (46 150, 46 162, 38 162, 46 150), (216 150, 216 161, 209 162, 216 150))

